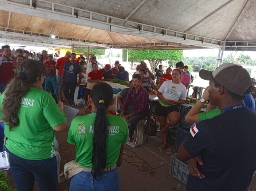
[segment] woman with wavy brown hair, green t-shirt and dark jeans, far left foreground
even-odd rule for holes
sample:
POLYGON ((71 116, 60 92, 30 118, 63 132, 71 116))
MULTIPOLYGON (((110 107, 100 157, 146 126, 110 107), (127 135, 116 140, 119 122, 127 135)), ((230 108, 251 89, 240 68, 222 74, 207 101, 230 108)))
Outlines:
POLYGON ((45 65, 29 60, 19 67, 0 96, 0 120, 5 122, 6 152, 16 189, 33 191, 35 178, 41 191, 56 191, 58 172, 55 131, 63 131, 66 117, 43 91, 45 65))

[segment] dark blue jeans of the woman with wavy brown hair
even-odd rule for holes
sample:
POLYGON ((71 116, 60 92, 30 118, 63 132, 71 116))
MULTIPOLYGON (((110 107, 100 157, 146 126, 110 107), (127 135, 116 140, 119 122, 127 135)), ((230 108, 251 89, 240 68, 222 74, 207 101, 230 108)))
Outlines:
POLYGON ((28 160, 9 153, 11 173, 18 191, 33 191, 35 178, 40 191, 56 191, 58 189, 58 173, 56 156, 43 160, 28 160))

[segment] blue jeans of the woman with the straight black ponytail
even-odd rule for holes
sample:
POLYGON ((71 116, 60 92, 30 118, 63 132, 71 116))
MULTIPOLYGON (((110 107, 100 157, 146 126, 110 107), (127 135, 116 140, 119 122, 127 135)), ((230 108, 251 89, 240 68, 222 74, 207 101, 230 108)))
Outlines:
MULTIPOLYGON (((99 178, 99 177, 98 177, 99 178)), ((97 178, 97 179, 98 179, 97 178)), ((91 172, 80 172, 72 177, 69 191, 119 191, 118 168, 104 171, 99 181, 93 180, 91 172)))

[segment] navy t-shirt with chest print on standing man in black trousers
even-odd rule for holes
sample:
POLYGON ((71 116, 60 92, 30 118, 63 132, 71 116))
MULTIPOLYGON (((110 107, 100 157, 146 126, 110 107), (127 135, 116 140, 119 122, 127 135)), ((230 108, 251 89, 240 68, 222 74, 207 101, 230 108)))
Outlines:
POLYGON ((83 71, 79 64, 72 64, 71 62, 65 62, 63 65, 63 69, 65 69, 65 82, 71 83, 76 83, 77 74, 83 71))

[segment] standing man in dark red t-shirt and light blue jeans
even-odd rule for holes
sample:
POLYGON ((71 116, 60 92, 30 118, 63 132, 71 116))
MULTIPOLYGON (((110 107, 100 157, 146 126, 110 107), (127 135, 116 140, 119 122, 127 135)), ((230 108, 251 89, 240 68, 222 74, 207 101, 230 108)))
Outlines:
POLYGON ((53 60, 53 55, 48 55, 48 61, 46 61, 45 66, 47 68, 47 73, 45 74, 45 82, 44 82, 44 90, 46 92, 50 92, 51 83, 53 86, 54 93, 58 96, 58 86, 56 80, 56 62, 53 60))

